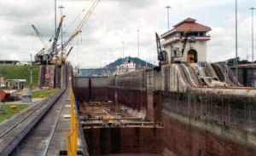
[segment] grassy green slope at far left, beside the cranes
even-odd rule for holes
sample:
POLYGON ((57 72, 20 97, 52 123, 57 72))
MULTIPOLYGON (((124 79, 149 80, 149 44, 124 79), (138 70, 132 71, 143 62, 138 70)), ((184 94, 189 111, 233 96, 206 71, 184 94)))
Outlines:
MULTIPOLYGON (((39 66, 32 66, 32 85, 38 85, 39 66)), ((26 79, 25 87, 30 86, 30 66, 0 66, 0 77, 4 79, 26 79)))

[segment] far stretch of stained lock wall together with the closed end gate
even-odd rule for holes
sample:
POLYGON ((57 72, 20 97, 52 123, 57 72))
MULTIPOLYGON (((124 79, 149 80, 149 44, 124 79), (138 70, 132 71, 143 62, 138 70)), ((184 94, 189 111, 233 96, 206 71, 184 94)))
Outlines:
POLYGON ((75 77, 78 101, 113 101, 119 108, 150 121, 161 120, 161 72, 130 72, 111 77, 75 77))

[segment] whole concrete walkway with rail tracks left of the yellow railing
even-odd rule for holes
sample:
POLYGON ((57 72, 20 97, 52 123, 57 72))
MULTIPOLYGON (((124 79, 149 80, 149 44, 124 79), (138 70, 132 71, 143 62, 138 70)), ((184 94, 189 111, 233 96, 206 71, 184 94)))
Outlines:
MULTIPOLYGON (((0 124, 0 156, 59 155, 67 150, 66 136, 70 129, 70 118, 64 116, 70 114, 67 89, 71 81, 67 79, 72 73, 72 67, 67 64, 62 68, 63 90, 0 124)), ((84 149, 82 144, 79 149, 84 149)))

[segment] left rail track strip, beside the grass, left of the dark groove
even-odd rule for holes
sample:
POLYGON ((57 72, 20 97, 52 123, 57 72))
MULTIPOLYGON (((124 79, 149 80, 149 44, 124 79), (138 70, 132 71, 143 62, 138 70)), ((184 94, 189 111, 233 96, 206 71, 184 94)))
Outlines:
POLYGON ((9 155, 23 141, 27 134, 51 110, 55 102, 61 98, 64 90, 48 99, 40 101, 27 110, 15 115, 3 124, 0 124, 0 155, 9 155))

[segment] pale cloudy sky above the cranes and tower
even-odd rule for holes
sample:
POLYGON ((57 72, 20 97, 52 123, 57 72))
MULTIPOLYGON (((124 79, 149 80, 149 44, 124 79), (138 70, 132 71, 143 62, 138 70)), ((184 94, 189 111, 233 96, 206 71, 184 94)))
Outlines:
MULTIPOLYGON (((91 3, 92 0, 57 0, 57 6, 65 7, 64 40, 73 34, 91 3)), ((74 66, 101 67, 123 55, 137 57, 139 30, 140 58, 157 64, 154 32, 167 31, 167 5, 172 7, 171 27, 187 17, 212 27, 207 61, 235 57, 235 0, 101 0, 82 33, 73 40, 74 48, 68 61, 74 66)), ((256 7, 255 0, 238 0, 238 56, 241 59, 252 60, 249 10, 252 6, 256 7)), ((60 9, 57 17, 59 21, 60 9)), ((54 0, 0 1, 0 59, 29 61, 30 54, 36 55, 42 49, 32 24, 44 38, 53 37, 54 0)))

